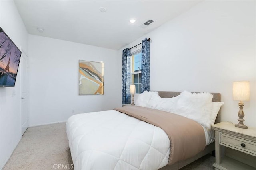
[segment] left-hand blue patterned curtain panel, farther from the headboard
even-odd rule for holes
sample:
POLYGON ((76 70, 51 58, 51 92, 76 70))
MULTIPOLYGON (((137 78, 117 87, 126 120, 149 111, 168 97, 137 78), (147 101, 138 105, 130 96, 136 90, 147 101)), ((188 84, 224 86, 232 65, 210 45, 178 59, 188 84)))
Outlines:
POLYGON ((130 98, 130 85, 131 85, 131 50, 123 50, 123 63, 122 63, 122 104, 131 103, 130 98))

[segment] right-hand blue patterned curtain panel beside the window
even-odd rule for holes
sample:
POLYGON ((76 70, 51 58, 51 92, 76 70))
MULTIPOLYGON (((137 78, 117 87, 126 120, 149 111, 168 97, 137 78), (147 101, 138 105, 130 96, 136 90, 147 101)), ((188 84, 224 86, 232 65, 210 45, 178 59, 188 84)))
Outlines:
POLYGON ((141 56, 141 92, 150 91, 150 42, 142 40, 141 56))

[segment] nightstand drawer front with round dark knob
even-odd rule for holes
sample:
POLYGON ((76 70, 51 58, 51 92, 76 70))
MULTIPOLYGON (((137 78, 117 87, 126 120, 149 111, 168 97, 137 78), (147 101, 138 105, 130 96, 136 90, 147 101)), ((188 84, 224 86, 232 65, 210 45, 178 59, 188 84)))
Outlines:
POLYGON ((220 133, 220 144, 228 145, 242 152, 256 155, 256 142, 220 133))

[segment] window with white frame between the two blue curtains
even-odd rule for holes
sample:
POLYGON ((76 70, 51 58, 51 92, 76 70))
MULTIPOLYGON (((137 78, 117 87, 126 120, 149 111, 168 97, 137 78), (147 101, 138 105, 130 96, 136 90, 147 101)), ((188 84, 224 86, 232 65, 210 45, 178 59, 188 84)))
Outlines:
POLYGON ((131 53, 131 84, 135 85, 136 93, 141 93, 141 49, 131 53))

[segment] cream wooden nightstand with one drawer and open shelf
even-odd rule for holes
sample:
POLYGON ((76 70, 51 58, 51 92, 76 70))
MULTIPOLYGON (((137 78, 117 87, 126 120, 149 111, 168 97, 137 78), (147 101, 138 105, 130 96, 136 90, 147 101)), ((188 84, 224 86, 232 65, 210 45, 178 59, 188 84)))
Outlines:
POLYGON ((215 170, 256 170, 256 128, 242 129, 228 122, 212 127, 215 130, 215 170))

